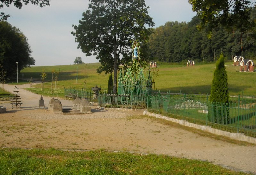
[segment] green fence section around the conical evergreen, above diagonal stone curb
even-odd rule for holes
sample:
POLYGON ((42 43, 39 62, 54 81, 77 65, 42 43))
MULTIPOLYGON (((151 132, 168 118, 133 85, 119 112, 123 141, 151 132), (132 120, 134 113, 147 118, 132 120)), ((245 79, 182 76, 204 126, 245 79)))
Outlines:
POLYGON ((256 98, 230 97, 230 102, 210 103, 201 95, 156 95, 146 99, 147 110, 191 123, 256 137, 256 98))

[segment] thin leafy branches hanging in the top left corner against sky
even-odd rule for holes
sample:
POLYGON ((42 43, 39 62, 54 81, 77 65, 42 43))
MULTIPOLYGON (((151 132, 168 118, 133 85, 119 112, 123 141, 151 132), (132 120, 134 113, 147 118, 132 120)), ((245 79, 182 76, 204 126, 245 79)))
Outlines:
MULTIPOLYGON (((9 7, 12 3, 18 9, 21 9, 23 3, 27 5, 28 3, 32 3, 34 5, 39 5, 40 7, 44 7, 50 5, 50 0, 0 0, 0 9, 6 5, 9 7)), ((0 20, 7 20, 10 15, 6 15, 4 12, 0 12, 0 20)))

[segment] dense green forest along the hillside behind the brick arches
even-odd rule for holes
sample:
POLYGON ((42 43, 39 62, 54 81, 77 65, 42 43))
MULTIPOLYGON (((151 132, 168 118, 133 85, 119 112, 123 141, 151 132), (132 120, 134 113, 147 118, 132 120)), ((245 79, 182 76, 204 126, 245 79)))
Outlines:
MULTIPOLYGON (((251 13, 251 20, 254 19, 255 9, 251 13)), ((255 60, 255 29, 243 33, 218 27, 212 31, 209 38, 206 31, 196 28, 199 23, 200 19, 195 16, 188 23, 167 22, 164 26, 154 29, 148 42, 149 61, 213 62, 221 53, 228 60, 232 60, 236 55, 255 60)))

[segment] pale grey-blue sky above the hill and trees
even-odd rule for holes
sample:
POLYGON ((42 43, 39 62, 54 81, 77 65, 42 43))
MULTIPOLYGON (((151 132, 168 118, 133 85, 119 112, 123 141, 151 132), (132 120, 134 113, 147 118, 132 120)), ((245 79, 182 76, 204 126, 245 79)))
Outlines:
MULTIPOLYGON (((96 63, 95 56, 86 57, 71 35, 72 25, 79 25, 82 13, 88 9, 88 0, 50 0, 50 6, 10 5, 0 12, 9 14, 7 22, 16 26, 27 37, 32 50, 34 66, 72 65, 76 57, 84 63, 96 63)), ((188 0, 145 0, 155 27, 168 21, 189 22, 196 13, 188 0)))

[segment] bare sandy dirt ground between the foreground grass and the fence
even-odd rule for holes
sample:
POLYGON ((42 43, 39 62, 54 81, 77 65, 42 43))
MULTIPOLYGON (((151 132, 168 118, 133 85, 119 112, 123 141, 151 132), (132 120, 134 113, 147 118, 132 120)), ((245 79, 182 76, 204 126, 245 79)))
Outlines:
MULTIPOLYGON (((20 86, 25 87, 24 86, 20 86)), ((4 88, 11 92, 13 86, 4 88)), ((91 114, 54 114, 38 109, 39 95, 23 89, 23 107, 0 114, 0 145, 3 148, 106 149, 142 154, 166 154, 207 160, 236 171, 256 174, 256 146, 239 146, 202 137, 184 129, 156 123, 150 118, 130 118, 143 112, 107 111, 93 106, 91 114)), ((44 97, 48 106, 49 99, 44 97)), ((72 101, 60 99, 63 106, 72 101)))

